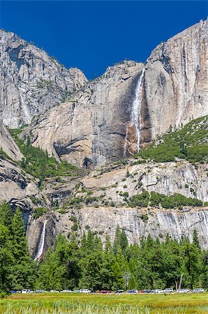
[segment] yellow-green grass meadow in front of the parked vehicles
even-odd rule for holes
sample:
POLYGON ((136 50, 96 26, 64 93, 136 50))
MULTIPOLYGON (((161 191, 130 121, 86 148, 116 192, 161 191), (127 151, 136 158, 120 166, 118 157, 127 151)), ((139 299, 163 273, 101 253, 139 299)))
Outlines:
POLYGON ((13 294, 0 299, 1 314, 208 313, 202 294, 13 294))

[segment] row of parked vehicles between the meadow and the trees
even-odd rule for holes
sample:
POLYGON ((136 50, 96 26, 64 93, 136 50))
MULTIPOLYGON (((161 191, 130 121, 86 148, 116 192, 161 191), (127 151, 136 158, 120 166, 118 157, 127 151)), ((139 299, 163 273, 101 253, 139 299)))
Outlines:
MULTIPOLYGON (((47 291, 45 290, 42 290, 42 289, 38 289, 38 290, 30 290, 30 289, 24 289, 22 291, 15 291, 15 290, 10 290, 10 293, 17 293, 17 292, 22 292, 22 293, 45 293, 47 291)), ((136 293, 147 293, 147 294, 154 294, 154 293, 158 293, 158 294, 161 294, 161 293, 173 293, 173 289, 172 288, 165 288, 164 290, 162 289, 154 289, 154 290, 148 290, 148 289, 145 289, 145 290, 128 290, 127 292, 124 292, 124 290, 117 290, 115 292, 112 292, 110 290, 101 290, 101 291, 94 291, 94 290, 89 290, 89 289, 80 289, 80 290, 68 290, 68 289, 65 289, 65 290, 61 290, 61 291, 57 291, 57 290, 50 290, 49 292, 61 292, 61 293, 75 293, 75 292, 80 292, 80 293, 101 293, 101 294, 111 294, 111 293, 117 293, 117 294, 123 294, 123 293, 129 293, 129 294, 136 294, 136 293)), ((189 292, 193 292, 193 293, 202 293, 202 292, 205 292, 205 290, 203 288, 196 288, 196 289, 193 289, 193 291, 189 290, 189 289, 178 289, 176 291, 177 293, 189 293, 189 292)), ((208 292, 208 289, 207 289, 207 292, 208 292)))

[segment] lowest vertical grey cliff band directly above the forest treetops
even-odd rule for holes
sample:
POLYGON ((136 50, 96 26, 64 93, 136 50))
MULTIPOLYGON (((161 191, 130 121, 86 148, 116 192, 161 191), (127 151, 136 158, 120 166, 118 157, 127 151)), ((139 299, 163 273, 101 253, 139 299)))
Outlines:
POLYGON ((74 224, 80 234, 90 230, 96 232, 103 241, 109 236, 114 240, 117 225, 123 229, 129 243, 140 243, 142 237, 158 237, 163 241, 167 234, 179 240, 186 236, 192 241, 193 230, 197 230, 200 245, 208 248, 208 209, 186 209, 184 211, 168 209, 135 209, 117 207, 87 207, 83 209, 68 209, 66 214, 48 213, 47 216, 33 220, 27 230, 30 253, 34 257, 47 219, 44 251, 54 243, 54 238, 61 233, 70 238, 74 224))

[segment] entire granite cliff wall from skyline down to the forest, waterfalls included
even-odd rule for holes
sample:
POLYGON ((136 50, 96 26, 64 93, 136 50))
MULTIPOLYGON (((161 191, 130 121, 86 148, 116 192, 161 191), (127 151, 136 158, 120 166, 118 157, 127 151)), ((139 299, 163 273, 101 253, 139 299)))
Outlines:
POLYGON ((87 83, 80 70, 66 70, 43 50, 1 31, 1 120, 12 128, 31 122, 20 135, 28 145, 30 138, 57 163, 87 168, 74 177, 63 171, 44 178, 40 188, 40 180, 21 168, 27 158, 21 145, 0 122, 0 202, 22 209, 33 257, 40 241, 43 257, 59 232, 80 237, 90 228, 104 241, 106 235, 113 239, 117 225, 131 243, 147 234, 192 239, 196 229, 207 248, 207 118, 188 129, 192 147, 202 147, 201 160, 189 160, 181 142, 183 154, 174 161, 132 158, 154 140, 163 143, 164 133, 208 114, 206 32, 207 21, 201 21, 158 45, 146 64, 122 61, 87 83), (196 203, 168 208, 133 202, 152 192, 196 203))

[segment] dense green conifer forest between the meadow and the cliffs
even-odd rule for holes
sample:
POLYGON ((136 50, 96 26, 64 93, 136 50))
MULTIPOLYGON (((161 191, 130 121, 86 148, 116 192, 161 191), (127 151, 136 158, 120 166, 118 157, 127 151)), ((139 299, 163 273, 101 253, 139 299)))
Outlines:
POLYGON ((43 262, 31 259, 22 212, 0 206, 0 292, 10 289, 118 290, 176 287, 208 287, 208 251, 200 248, 197 232, 193 242, 166 237, 141 239, 128 244, 124 230, 117 227, 114 241, 88 230, 81 239, 59 234, 43 262))

